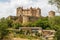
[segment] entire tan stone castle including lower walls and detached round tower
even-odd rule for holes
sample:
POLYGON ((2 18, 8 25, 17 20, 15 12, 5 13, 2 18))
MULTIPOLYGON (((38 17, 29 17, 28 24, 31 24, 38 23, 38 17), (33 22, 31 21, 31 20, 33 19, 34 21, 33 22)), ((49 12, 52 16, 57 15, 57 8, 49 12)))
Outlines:
MULTIPOLYGON (((48 17, 54 17, 55 12, 50 11, 48 17)), ((14 19, 15 16, 10 16, 9 18, 14 19)), ((41 9, 40 8, 32 8, 30 7, 29 9, 23 9, 23 7, 18 7, 16 9, 16 17, 17 19, 15 21, 20 22, 20 23, 27 23, 27 22, 35 22, 38 19, 40 19, 41 16, 41 9)))

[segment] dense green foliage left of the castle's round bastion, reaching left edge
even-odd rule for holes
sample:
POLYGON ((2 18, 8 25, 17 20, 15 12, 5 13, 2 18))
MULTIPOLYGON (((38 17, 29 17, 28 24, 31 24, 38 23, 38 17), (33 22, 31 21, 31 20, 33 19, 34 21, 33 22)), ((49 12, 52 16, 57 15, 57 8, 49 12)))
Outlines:
POLYGON ((20 27, 21 24, 16 24, 14 26, 13 21, 6 19, 6 18, 1 18, 0 19, 0 40, 2 40, 6 35, 9 34, 9 28, 18 28, 20 27))

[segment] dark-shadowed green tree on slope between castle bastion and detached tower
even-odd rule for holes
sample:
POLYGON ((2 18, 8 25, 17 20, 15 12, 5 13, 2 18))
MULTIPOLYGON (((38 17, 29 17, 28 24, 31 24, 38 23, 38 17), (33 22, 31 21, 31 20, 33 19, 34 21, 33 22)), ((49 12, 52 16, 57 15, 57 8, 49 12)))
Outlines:
POLYGON ((50 27, 47 17, 39 19, 38 21, 36 21, 35 25, 37 27, 42 27, 43 29, 46 29, 46 28, 50 27))

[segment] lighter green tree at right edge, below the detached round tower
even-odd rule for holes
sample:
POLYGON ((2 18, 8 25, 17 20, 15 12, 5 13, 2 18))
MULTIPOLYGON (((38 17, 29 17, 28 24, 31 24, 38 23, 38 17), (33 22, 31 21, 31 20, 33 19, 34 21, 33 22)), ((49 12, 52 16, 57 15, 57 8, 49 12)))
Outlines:
POLYGON ((60 16, 56 16, 54 18, 50 18, 49 19, 49 25, 50 25, 50 28, 51 29, 54 29, 54 30, 59 30, 60 29, 60 16))

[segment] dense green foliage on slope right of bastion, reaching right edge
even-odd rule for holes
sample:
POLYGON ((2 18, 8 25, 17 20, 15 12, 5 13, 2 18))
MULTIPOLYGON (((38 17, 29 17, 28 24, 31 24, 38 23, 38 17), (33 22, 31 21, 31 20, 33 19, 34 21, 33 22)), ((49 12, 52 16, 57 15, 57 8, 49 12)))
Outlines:
POLYGON ((53 18, 43 17, 37 20, 36 22, 27 23, 26 27, 42 27, 42 29, 60 29, 60 16, 56 16, 53 18))

